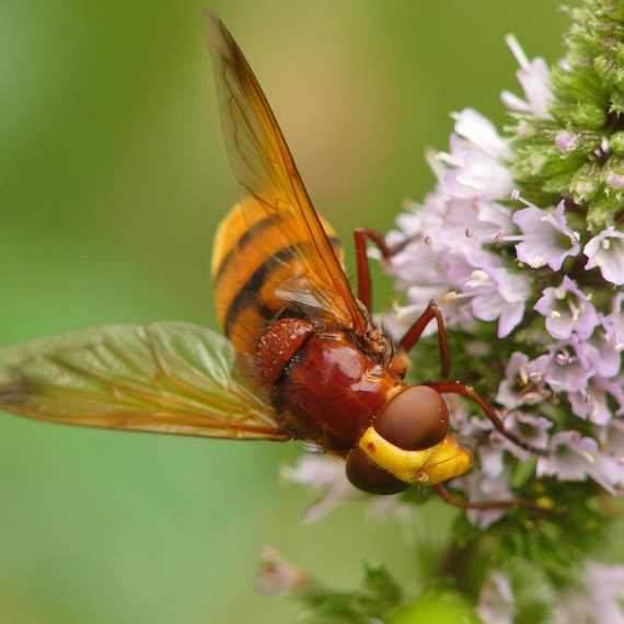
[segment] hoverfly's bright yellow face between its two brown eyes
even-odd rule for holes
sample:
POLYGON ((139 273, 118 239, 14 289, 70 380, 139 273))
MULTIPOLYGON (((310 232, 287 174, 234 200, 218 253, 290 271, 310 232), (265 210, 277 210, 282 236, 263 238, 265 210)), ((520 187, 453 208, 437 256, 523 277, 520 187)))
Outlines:
POLYGON ((472 466, 470 453, 450 434, 429 449, 406 451, 382 438, 371 426, 359 447, 375 464, 409 484, 436 485, 461 476, 472 466))

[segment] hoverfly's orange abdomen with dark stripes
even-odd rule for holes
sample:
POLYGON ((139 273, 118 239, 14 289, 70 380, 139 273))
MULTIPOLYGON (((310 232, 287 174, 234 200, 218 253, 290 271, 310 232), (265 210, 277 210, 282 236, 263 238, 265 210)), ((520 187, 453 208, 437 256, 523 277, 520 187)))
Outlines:
MULTIPOLYGON (((287 220, 277 223, 255 200, 246 199, 227 215, 215 236, 212 278, 219 323, 236 350, 252 355, 267 325, 288 309, 280 287, 302 274, 299 254, 305 241, 288 230, 287 220)), ((332 229, 325 221, 323 226, 340 257, 332 229)))

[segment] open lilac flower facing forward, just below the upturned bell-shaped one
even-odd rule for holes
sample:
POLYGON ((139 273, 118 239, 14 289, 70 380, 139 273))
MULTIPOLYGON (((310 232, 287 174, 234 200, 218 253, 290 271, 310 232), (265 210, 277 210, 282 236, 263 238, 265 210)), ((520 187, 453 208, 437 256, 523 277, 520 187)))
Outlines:
POLYGON ((553 338, 566 339, 573 332, 589 338, 599 323, 589 297, 567 276, 557 288, 545 288, 533 309, 546 317, 546 330, 553 338))

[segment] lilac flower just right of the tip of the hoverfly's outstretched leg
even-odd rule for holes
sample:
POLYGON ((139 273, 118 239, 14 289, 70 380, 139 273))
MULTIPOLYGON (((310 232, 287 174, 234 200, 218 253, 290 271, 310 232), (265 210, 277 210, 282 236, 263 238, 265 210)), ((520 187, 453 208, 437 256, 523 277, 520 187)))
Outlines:
POLYGON ((598 442, 578 431, 559 431, 551 438, 550 454, 538 460, 539 477, 556 476, 558 481, 585 481, 596 465, 598 442))

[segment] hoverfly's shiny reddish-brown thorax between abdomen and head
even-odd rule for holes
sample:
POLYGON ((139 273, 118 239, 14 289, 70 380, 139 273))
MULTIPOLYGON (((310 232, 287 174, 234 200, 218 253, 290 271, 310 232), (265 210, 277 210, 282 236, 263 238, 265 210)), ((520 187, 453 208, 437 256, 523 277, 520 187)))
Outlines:
POLYGON ((273 386, 280 426, 346 455, 404 385, 378 359, 347 332, 321 333, 310 321, 284 319, 261 339, 256 361, 273 386))

